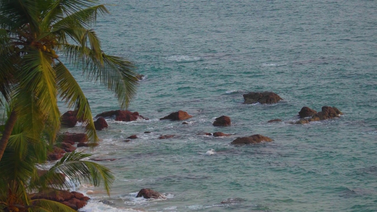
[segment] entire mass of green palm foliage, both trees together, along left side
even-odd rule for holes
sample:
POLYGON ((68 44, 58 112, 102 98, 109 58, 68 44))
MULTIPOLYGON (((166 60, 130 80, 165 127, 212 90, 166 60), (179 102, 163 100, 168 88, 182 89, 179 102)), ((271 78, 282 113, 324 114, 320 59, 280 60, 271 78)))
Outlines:
POLYGON ((74 184, 104 186, 109 192, 110 170, 82 160, 90 155, 67 153, 46 174, 37 168, 60 131, 62 100, 83 120, 90 142, 97 142, 87 98, 67 67, 82 69, 126 108, 136 92, 135 66, 105 54, 91 28, 98 14, 108 13, 97 0, 0 0, 0 210, 70 211, 50 200, 31 200, 31 192, 50 187, 63 173, 74 184), (69 64, 69 66, 66 66, 69 64))

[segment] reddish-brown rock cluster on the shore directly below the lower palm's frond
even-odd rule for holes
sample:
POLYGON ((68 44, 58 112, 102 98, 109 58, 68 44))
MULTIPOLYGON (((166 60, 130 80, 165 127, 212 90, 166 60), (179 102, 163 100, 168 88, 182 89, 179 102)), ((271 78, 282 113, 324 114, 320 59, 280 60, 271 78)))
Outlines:
POLYGON ((90 200, 89 197, 86 197, 81 193, 58 189, 49 189, 43 192, 31 194, 31 199, 45 199, 56 201, 65 204, 66 206, 69 206, 74 210, 78 210, 84 207, 87 201, 90 200))

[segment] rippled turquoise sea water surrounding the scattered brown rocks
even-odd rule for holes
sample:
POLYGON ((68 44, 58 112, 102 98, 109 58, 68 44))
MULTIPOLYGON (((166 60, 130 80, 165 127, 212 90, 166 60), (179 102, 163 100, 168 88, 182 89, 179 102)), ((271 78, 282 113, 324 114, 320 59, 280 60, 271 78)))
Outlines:
MULTIPOLYGON (((116 181, 110 198, 81 188, 93 190, 84 211, 377 211, 376 1, 103 3, 111 15, 95 29, 106 52, 146 75, 129 110, 150 120, 107 119, 93 157, 117 159, 100 162, 116 181), (242 104, 251 91, 284 101, 242 104), (345 115, 288 124, 303 106, 323 105, 345 115), (190 124, 158 120, 178 110, 193 115, 190 124), (221 115, 231 126, 212 126, 221 115), (267 123, 275 118, 283 122, 267 123), (233 135, 197 135, 216 131, 233 135), (122 142, 132 134, 139 138, 122 142), (253 134, 274 141, 230 145, 253 134), (205 155, 209 149, 216 154, 205 155), (145 187, 168 199, 135 198, 145 187), (228 198, 238 201, 221 204, 228 198)), ((93 115, 119 109, 110 92, 78 73, 93 115)))

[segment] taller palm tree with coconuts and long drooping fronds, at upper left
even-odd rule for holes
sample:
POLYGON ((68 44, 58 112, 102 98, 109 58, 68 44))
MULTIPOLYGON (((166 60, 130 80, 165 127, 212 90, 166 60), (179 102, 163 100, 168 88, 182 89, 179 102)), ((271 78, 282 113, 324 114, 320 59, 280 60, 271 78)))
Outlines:
POLYGON ((64 63, 81 68, 88 80, 112 91, 122 109, 136 92, 135 66, 105 54, 90 27, 108 13, 98 0, 0 0, 0 92, 12 110, 2 131, 0 161, 17 121, 34 139, 60 129, 57 100, 83 120, 90 142, 98 140, 89 102, 64 63), (63 55, 61 58, 59 55, 63 55))

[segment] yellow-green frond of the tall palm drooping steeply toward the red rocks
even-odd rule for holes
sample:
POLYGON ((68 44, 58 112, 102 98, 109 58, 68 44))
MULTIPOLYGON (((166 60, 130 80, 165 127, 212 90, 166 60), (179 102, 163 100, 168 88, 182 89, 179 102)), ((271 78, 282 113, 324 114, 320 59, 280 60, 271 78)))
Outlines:
POLYGON ((68 103, 69 108, 75 106, 74 110, 77 111, 77 118, 83 118, 83 126, 85 126, 85 133, 88 135, 89 141, 97 141, 98 138, 94 127, 92 112, 90 111, 89 102, 83 91, 63 63, 59 62, 55 66, 55 71, 57 74, 57 87, 60 98, 68 103))

